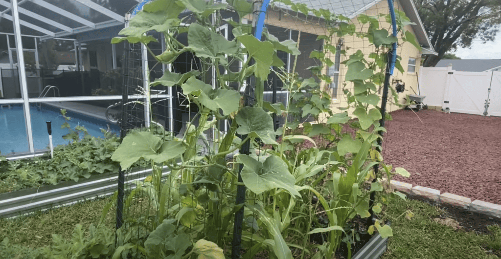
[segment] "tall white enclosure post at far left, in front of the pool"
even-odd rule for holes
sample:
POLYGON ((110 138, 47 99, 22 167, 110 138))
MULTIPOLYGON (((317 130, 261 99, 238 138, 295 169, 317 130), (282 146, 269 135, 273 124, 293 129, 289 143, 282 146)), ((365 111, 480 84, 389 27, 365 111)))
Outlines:
POLYGON ((31 113, 30 113, 30 103, 28 101, 28 83, 26 79, 26 70, 25 70, 25 58, 23 52, 23 41, 21 40, 21 25, 19 23, 19 12, 18 12, 18 0, 11 1, 12 8, 12 21, 14 25, 14 35, 16 38, 16 52, 18 54, 18 72, 19 72, 19 81, 21 83, 21 92, 23 96, 23 106, 25 112, 25 123, 26 123, 26 133, 28 136, 28 147, 30 152, 35 152, 35 147, 33 144, 33 134, 32 134, 32 125, 31 125, 31 113))

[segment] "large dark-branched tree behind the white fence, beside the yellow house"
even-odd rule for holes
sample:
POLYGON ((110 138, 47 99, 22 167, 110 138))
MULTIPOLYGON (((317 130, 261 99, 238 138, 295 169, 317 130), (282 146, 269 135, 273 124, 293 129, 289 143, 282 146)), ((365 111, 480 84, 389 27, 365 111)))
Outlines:
POLYGON ((474 38, 494 40, 501 23, 499 0, 414 0, 431 44, 438 52, 424 66, 435 66, 446 52, 471 47, 474 38))

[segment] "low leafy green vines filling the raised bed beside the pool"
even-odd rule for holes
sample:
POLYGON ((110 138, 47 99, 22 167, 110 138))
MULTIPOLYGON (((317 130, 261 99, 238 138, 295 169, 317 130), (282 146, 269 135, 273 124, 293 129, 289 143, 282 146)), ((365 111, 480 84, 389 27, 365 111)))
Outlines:
MULTIPOLYGON (((61 111, 67 121, 62 128, 69 128, 66 111, 61 111)), ((0 193, 57 184, 60 181, 89 178, 93 174, 116 172, 118 164, 111 160, 111 155, 118 147, 119 138, 102 129, 105 138, 94 137, 80 132, 87 130, 83 126, 69 129, 63 136, 72 141, 67 145, 54 147, 54 157, 33 157, 21 160, 0 158, 0 193)))

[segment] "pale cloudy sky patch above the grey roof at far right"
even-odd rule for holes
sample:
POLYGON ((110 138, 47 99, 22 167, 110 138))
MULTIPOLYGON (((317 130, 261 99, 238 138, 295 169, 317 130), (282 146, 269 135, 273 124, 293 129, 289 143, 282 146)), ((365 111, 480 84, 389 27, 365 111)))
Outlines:
POLYGON ((497 33, 494 41, 485 44, 480 39, 474 39, 471 49, 457 48, 454 53, 461 59, 501 59, 501 33, 497 33))

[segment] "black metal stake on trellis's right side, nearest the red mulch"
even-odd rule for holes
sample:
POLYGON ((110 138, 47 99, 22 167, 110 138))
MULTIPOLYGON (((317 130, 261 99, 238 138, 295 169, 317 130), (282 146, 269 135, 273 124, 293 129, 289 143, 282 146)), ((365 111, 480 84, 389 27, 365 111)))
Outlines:
MULTIPOLYGON (((389 87, 389 84, 390 84, 390 76, 391 76, 391 60, 392 60, 392 57, 393 57, 393 52, 392 51, 389 51, 388 52, 388 62, 386 63, 386 74, 384 76, 384 86, 383 86, 383 96, 382 96, 382 100, 381 100, 381 119, 379 120, 379 125, 381 127, 384 127, 384 122, 385 122, 385 116, 386 116, 386 102, 387 102, 387 99, 388 99, 388 87, 389 87)), ((381 136, 381 137, 378 137, 377 139, 377 144, 378 146, 376 146, 376 150, 378 152, 381 152, 381 148, 380 146, 382 146, 382 143, 383 143, 383 130, 379 130, 378 131, 378 134, 381 136)), ((372 182, 376 182, 377 181, 377 174, 379 172, 379 164, 376 164, 374 165, 374 179, 372 180, 372 182)), ((370 195, 370 198, 369 198, 369 213, 371 213, 371 216, 369 218, 367 218, 367 227, 369 227, 370 225, 373 224, 372 222, 372 218, 374 217, 374 211, 372 210, 372 206, 374 205, 374 199, 376 198, 376 192, 371 192, 371 195, 370 195)))

